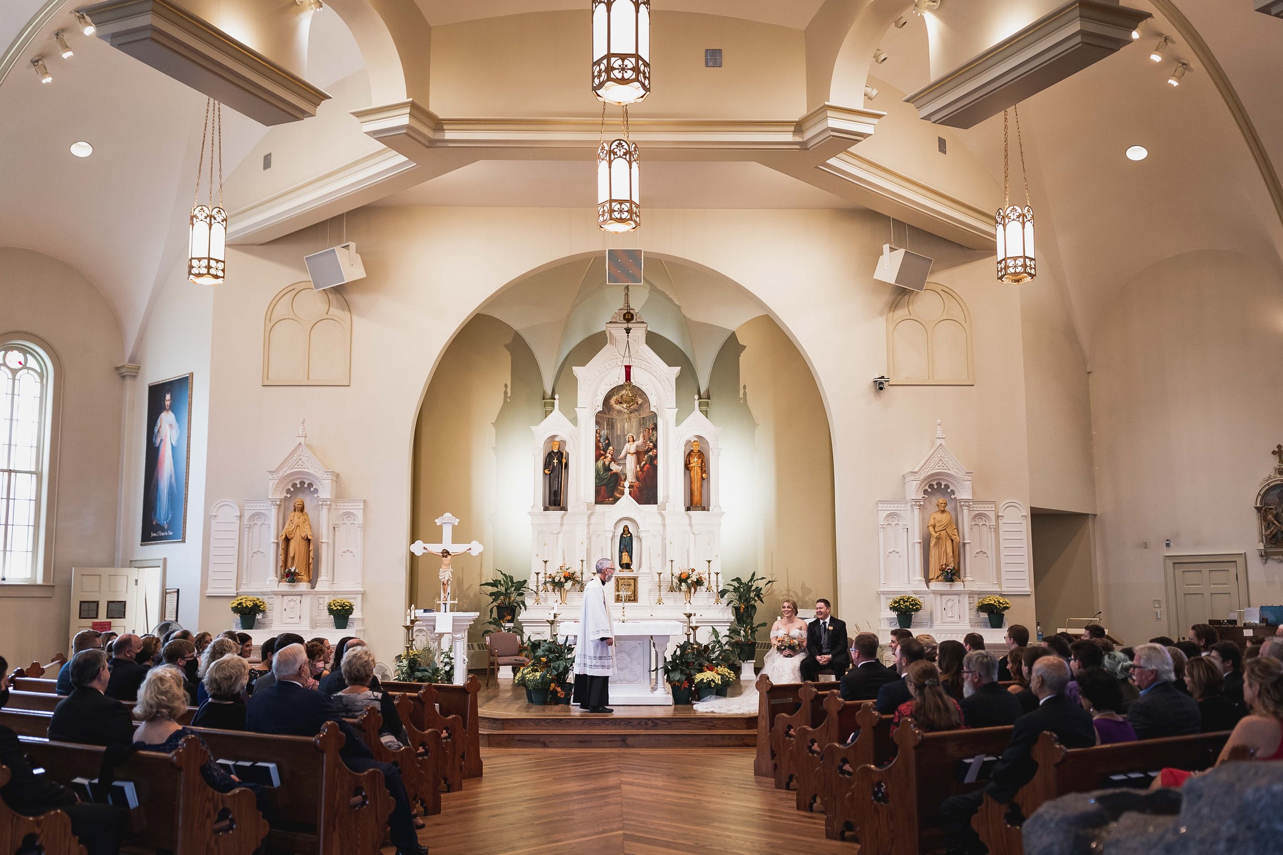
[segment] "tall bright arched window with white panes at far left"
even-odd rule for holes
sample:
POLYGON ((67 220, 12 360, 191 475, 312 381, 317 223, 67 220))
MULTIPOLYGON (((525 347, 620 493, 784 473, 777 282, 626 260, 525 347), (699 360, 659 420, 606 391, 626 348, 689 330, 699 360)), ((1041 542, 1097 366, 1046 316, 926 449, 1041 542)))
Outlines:
POLYGON ((51 382, 44 354, 0 345, 0 582, 37 581, 51 382))

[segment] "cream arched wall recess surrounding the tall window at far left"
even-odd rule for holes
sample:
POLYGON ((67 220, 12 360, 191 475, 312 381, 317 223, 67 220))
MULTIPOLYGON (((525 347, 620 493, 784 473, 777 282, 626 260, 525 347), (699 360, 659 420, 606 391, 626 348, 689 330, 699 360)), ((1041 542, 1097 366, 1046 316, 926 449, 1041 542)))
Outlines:
POLYGON ((119 322, 98 288, 74 268, 30 250, 0 247, 0 336, 30 333, 49 344, 58 361, 62 400, 51 590, 0 588, 0 655, 10 668, 71 652, 73 567, 115 560, 115 509, 121 459, 119 322))

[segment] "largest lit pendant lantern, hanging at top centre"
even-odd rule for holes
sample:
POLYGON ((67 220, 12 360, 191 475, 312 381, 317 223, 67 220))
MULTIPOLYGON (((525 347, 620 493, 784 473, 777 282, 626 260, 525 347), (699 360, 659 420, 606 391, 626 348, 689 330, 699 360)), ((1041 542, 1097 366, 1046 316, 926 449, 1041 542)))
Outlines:
POLYGON ((650 0, 593 0, 593 94, 621 106, 650 94, 650 0))

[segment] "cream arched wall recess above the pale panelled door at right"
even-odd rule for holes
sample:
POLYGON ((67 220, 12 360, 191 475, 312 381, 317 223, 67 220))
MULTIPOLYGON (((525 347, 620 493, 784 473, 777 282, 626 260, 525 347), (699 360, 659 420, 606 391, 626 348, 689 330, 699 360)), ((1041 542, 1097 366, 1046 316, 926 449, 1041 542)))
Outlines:
POLYGON ((1106 620, 1129 641, 1169 635, 1165 552, 1246 552, 1251 602, 1283 602, 1252 508, 1283 440, 1279 274, 1236 253, 1169 258, 1128 283, 1093 342, 1106 620))

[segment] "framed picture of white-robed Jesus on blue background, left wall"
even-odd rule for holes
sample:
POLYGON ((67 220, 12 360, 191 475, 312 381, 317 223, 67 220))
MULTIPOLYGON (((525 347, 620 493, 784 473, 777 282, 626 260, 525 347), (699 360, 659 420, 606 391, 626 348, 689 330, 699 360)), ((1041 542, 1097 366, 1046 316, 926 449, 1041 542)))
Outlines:
POLYGON ((191 374, 148 383, 142 470, 142 545, 187 538, 191 374))

